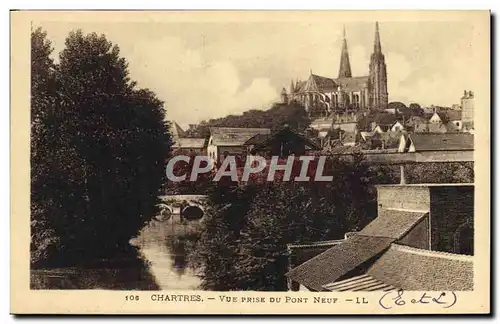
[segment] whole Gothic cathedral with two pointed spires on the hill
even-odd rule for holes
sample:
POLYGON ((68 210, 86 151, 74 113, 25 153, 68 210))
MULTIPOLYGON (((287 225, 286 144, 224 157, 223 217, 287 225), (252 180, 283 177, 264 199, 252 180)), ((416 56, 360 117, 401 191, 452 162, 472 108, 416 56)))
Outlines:
POLYGON ((375 24, 368 76, 352 76, 345 29, 343 36, 338 77, 328 78, 311 72, 307 81, 292 80, 288 93, 283 88, 283 101, 300 102, 311 117, 347 117, 368 110, 387 109, 387 67, 380 44, 378 22, 375 24))

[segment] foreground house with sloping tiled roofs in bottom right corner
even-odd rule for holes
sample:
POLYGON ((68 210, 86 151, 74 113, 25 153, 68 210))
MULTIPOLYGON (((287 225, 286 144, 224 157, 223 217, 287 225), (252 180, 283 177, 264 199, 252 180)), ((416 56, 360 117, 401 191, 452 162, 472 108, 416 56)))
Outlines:
POLYGON ((377 217, 361 231, 289 246, 289 290, 473 290, 474 185, 380 185, 377 194, 377 217))

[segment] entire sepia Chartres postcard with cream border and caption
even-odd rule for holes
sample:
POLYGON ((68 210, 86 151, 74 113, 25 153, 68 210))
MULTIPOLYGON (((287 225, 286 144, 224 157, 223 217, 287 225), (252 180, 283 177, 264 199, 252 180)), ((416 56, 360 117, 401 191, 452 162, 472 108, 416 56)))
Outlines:
POLYGON ((490 313, 490 19, 11 12, 11 312, 490 313))

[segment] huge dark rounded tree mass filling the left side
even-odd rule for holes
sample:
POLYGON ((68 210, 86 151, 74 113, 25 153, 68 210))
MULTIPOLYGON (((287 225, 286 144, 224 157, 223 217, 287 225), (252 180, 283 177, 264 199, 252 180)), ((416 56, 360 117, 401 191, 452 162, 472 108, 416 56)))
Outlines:
POLYGON ((127 248, 156 212, 171 139, 163 102, 136 88, 117 46, 72 32, 49 78, 44 38, 32 34, 32 51, 45 55, 32 61, 32 82, 51 89, 32 92, 32 241, 50 233, 57 244, 45 254, 32 246, 32 261, 54 266, 127 248))

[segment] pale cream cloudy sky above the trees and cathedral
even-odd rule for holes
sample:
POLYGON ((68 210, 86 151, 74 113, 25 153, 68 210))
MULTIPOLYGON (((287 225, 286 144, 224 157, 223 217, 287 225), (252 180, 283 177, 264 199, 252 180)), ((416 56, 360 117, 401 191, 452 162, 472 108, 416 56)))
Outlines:
MULTIPOLYGON (((337 77, 344 26, 353 76, 368 75, 375 32, 366 19, 33 24, 47 32, 55 56, 72 30, 104 34, 129 62, 131 78, 165 101, 167 118, 183 127, 267 109, 291 79, 306 80, 311 71, 337 77)), ((465 89, 477 90, 484 76, 475 66, 485 57, 473 21, 379 24, 389 101, 451 106, 465 89)))

